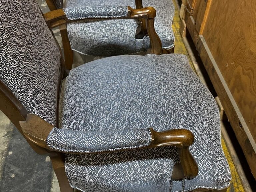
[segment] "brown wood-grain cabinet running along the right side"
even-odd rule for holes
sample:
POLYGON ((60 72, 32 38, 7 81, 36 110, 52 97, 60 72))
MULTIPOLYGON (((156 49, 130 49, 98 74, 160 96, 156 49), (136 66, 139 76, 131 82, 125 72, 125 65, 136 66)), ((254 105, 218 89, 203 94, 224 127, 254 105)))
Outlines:
POLYGON ((182 2, 185 25, 256 179, 256 2, 182 2))

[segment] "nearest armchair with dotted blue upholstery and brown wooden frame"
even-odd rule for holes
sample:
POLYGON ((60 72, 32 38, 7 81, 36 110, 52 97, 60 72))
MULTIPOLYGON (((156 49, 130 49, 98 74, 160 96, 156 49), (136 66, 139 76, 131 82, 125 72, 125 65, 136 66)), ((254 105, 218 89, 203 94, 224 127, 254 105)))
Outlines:
POLYGON ((126 18, 146 20, 146 56, 68 71, 48 28, 69 22, 67 15, 60 9, 44 18, 33 0, 0 0, 0 109, 50 156, 61 192, 229 186, 215 100, 186 56, 162 54, 155 15, 152 7, 129 8, 126 18))

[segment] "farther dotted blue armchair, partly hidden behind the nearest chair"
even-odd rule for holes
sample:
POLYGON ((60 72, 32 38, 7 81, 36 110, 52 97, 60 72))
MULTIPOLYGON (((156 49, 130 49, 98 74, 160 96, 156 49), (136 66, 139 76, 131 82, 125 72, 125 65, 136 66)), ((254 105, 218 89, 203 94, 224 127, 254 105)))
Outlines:
POLYGON ((69 22, 67 28, 60 28, 68 66, 72 66, 72 50, 103 57, 147 51, 150 40, 145 19, 122 19, 129 14, 127 6, 136 9, 143 8, 143 5, 154 7, 157 11, 155 30, 162 41, 162 48, 168 53, 173 52, 172 0, 65 0, 64 4, 62 0, 46 2, 51 10, 63 8, 70 20, 87 18, 69 22))

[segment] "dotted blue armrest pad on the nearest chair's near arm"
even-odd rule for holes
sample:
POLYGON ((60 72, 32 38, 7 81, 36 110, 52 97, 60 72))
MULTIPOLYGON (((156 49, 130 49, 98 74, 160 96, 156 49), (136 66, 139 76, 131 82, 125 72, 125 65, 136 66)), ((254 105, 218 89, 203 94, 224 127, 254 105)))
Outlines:
POLYGON ((76 131, 54 127, 47 137, 49 148, 72 153, 95 153, 146 147, 150 129, 76 131))

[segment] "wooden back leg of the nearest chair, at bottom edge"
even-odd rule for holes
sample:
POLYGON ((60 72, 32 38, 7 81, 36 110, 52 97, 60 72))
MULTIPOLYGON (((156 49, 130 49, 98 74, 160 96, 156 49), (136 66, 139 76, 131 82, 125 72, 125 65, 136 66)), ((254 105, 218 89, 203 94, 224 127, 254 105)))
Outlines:
POLYGON ((74 189, 69 185, 68 178, 65 172, 64 154, 50 154, 53 170, 57 176, 61 192, 74 192, 74 189))

